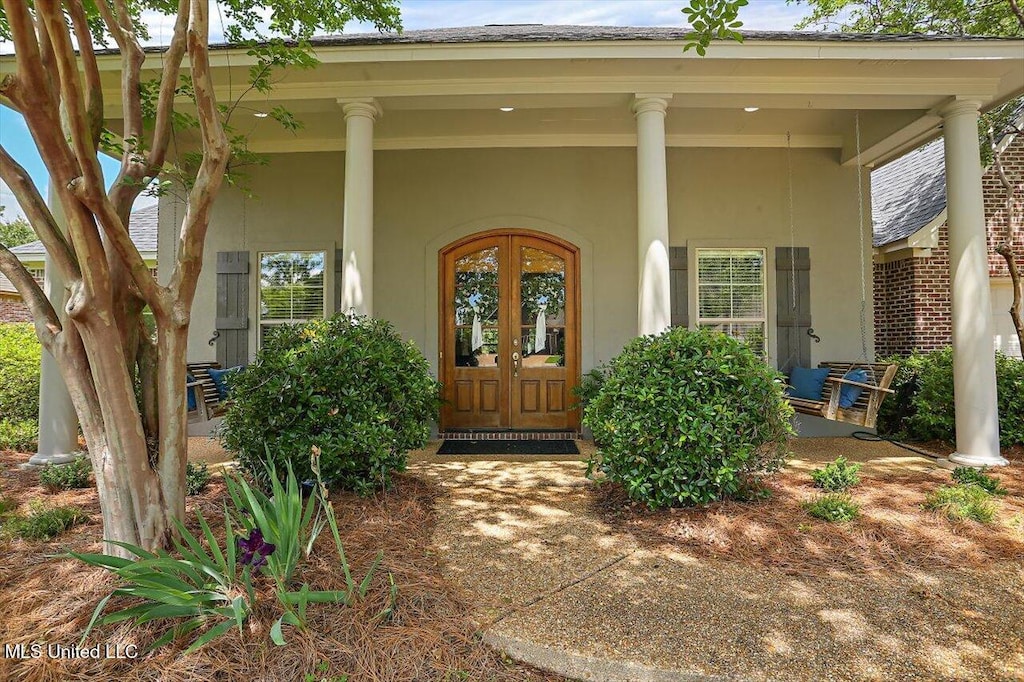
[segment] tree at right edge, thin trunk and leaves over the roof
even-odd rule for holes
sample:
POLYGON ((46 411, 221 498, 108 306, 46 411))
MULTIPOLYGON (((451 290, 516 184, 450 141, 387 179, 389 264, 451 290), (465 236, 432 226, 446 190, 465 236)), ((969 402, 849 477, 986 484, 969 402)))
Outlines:
MULTIPOLYGON (((944 34, 951 36, 1024 36, 1024 0, 786 0, 806 5, 810 13, 797 29, 820 28, 854 33, 944 34)), ((701 56, 714 40, 742 42, 740 9, 748 0, 690 0, 682 11, 691 31, 684 50, 701 56)), ((981 163, 991 167, 1004 190, 1004 226, 994 251, 1007 262, 1013 286, 1009 314, 1024 348, 1024 276, 1015 251, 1020 214, 1024 211, 1024 174, 1002 163, 1007 135, 1024 134, 1024 97, 1008 101, 981 117, 981 163)))

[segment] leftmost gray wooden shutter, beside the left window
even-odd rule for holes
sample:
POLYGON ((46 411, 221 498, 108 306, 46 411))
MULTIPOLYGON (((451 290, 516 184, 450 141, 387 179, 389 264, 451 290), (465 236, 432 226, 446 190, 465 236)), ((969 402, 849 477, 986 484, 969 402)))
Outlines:
POLYGON ((249 252, 217 254, 217 363, 249 363, 249 252))

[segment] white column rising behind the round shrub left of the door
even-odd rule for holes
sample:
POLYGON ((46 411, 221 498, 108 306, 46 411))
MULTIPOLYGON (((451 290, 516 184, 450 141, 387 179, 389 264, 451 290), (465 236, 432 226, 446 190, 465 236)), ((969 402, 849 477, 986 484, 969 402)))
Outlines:
POLYGON ((339 99, 345 114, 345 204, 341 309, 374 312, 374 121, 373 99, 339 99))

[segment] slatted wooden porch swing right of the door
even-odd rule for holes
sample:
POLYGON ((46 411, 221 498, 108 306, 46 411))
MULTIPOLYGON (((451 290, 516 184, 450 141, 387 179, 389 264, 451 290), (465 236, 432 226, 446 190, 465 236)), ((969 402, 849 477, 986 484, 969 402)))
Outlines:
POLYGON ((869 429, 874 428, 882 400, 887 394, 895 392, 889 388, 889 384, 896 376, 898 366, 887 363, 821 363, 818 367, 828 368, 828 377, 825 379, 821 399, 809 400, 788 396, 787 399, 793 409, 805 415, 823 417, 834 422, 856 424, 869 429), (866 370, 868 376, 873 377, 878 383, 860 383, 844 378, 850 370, 860 369, 866 370), (859 386, 863 389, 850 408, 841 408, 839 404, 843 386, 859 386))

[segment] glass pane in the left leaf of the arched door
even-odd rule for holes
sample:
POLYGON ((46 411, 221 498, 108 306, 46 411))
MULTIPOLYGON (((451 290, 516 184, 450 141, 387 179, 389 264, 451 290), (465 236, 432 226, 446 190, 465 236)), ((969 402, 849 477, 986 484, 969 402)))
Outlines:
POLYGON ((498 366, 498 247, 455 263, 456 367, 498 366))

